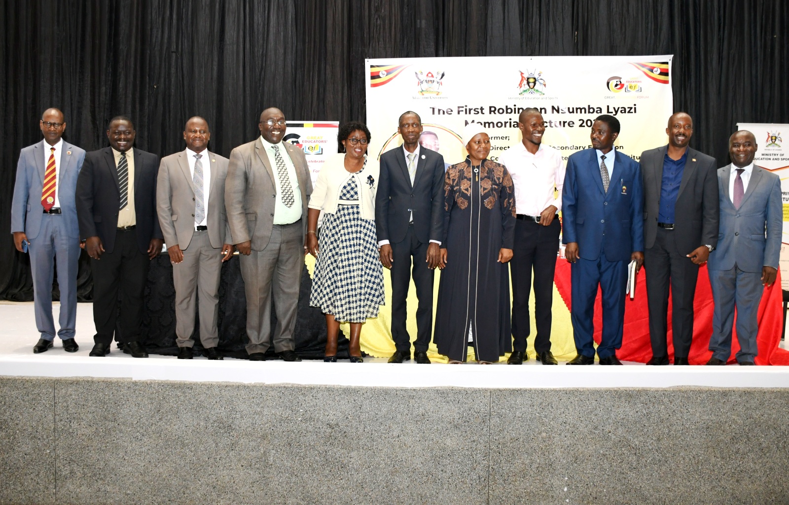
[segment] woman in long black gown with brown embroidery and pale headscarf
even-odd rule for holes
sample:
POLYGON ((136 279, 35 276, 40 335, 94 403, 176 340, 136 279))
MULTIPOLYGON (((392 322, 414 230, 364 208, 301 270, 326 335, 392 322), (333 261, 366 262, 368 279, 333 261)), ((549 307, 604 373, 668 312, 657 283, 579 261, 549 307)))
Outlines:
POLYGON ((444 179, 436 329, 433 340, 451 363, 465 362, 472 345, 477 361, 499 361, 512 351, 510 277, 515 226, 514 188, 507 168, 488 160, 490 138, 469 124, 466 161, 444 179))

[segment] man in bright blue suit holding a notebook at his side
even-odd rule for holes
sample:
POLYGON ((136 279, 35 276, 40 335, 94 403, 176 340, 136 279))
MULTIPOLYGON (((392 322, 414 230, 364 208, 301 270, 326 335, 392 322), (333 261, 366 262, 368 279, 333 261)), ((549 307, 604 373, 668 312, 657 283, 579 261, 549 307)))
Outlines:
POLYGON ((597 347, 600 365, 621 365, 627 265, 644 262, 644 206, 641 169, 616 152, 619 120, 608 114, 592 124, 593 149, 570 155, 564 176, 563 243, 572 263, 572 310, 578 355, 568 365, 594 364, 594 299, 603 291, 603 336, 597 347))

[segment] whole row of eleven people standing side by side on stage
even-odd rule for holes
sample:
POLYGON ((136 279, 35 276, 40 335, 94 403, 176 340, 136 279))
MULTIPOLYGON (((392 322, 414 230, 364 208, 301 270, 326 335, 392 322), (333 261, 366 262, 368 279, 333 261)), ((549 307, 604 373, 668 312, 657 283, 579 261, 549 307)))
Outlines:
POLYGON ((133 147, 127 117, 107 127, 110 147, 85 153, 62 139, 60 110, 43 113, 43 141, 21 151, 12 208, 19 251, 29 251, 40 339, 55 336, 51 309, 54 264, 61 290, 60 330, 74 352, 77 258, 84 247, 94 279, 96 327, 90 355, 110 352, 113 336, 136 358, 144 283, 163 243, 173 264, 178 358, 193 358, 195 312, 204 355, 222 359, 217 332, 219 275, 234 250, 241 255, 247 305, 246 351, 262 361, 269 347, 285 361, 301 361, 294 326, 303 254, 316 257, 309 303, 327 321, 326 362, 337 361, 338 330, 350 323, 350 361, 362 362, 361 328, 384 303, 383 267, 392 286, 390 363, 411 358, 406 299, 417 291, 413 360, 428 364, 431 336, 450 363, 509 364, 528 359, 529 291, 535 294, 537 360, 556 365, 551 351, 553 277, 559 236, 571 266, 571 318, 578 355, 569 365, 620 365, 628 264, 645 265, 650 365, 667 365, 667 301, 673 303, 674 364, 688 364, 699 265, 708 263, 715 299, 712 358, 731 356, 735 306, 741 365, 757 355, 757 307, 763 285, 776 280, 782 232, 780 180, 753 165, 756 139, 729 139, 731 164, 689 147, 693 121, 669 118, 668 145, 641 161, 615 150, 619 121, 597 117, 592 146, 570 155, 542 142, 537 109, 518 118, 522 142, 499 162, 488 158, 490 137, 470 123, 462 142, 468 156, 447 165, 420 145, 421 118, 402 113, 402 146, 368 156, 365 124, 339 128, 342 154, 323 165, 315 187, 304 152, 282 142, 281 110, 260 115, 260 137, 236 147, 230 159, 208 150, 211 132, 192 117, 185 150, 162 158, 133 147), (559 212, 562 222, 559 222, 559 212), (319 219, 322 216, 322 220, 319 219), (319 221, 320 228, 319 228, 319 221), (81 238, 81 241, 80 241, 81 238), (507 268, 507 264, 511 268, 507 268), (435 269, 443 270, 433 325, 435 269), (510 318, 510 273, 514 299, 510 318), (593 345, 593 304, 602 291, 603 329, 593 345), (118 310, 118 298, 121 305, 118 310), (197 300, 199 299, 199 303, 197 300), (277 323, 271 328, 271 305, 277 323), (199 305, 199 306, 197 306, 199 305), (118 317, 120 318, 118 323, 118 317))

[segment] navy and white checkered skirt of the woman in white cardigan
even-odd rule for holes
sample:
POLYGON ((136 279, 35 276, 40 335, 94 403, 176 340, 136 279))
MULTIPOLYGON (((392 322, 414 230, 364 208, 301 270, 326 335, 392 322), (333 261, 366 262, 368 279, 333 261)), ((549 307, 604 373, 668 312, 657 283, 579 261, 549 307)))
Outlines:
POLYGON ((362 219, 358 205, 338 205, 323 214, 309 304, 337 321, 363 323, 383 302, 376 222, 362 219))

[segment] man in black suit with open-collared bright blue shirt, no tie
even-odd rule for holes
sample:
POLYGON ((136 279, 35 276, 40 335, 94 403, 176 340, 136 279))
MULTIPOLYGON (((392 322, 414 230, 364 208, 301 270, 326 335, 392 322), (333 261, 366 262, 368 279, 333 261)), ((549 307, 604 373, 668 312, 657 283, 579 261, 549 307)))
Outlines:
POLYGON ((687 365, 693 340, 693 300, 699 265, 718 243, 715 160, 688 147, 693 119, 668 119, 668 145, 641 154, 644 176, 644 267, 649 305, 648 365, 667 365, 668 289, 671 285, 674 364, 687 365))

